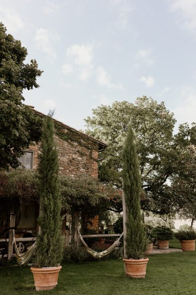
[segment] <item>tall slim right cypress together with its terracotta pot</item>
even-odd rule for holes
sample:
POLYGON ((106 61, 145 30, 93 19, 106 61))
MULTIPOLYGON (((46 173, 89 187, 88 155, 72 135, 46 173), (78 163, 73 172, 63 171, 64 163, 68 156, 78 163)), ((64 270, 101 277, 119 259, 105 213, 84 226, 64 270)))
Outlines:
POLYGON ((126 205, 125 274, 131 278, 145 278, 149 259, 144 258, 146 232, 140 209, 141 177, 131 125, 123 148, 123 191, 126 205))

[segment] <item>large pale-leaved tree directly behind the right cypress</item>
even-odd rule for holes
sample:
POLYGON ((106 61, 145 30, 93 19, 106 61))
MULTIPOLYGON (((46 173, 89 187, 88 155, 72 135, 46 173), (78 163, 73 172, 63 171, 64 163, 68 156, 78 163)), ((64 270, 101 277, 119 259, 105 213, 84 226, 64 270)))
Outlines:
POLYGON ((107 148, 100 153, 100 180, 121 187, 122 146, 131 121, 140 163, 141 186, 145 192, 142 208, 165 214, 172 211, 173 200, 166 180, 173 173, 176 157, 172 147, 175 124, 173 113, 165 104, 152 98, 137 98, 135 104, 123 101, 93 109, 85 119, 86 133, 105 141, 107 148))

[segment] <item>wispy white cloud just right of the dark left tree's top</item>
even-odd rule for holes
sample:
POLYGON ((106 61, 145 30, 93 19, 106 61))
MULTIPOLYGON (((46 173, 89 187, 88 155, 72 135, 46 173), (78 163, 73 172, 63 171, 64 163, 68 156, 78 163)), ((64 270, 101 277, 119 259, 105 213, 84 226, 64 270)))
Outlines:
POLYGON ((52 48, 52 42, 60 39, 59 34, 49 33, 48 30, 40 28, 36 31, 34 40, 37 43, 38 48, 45 52, 47 55, 47 59, 50 62, 54 62, 57 60, 57 54, 52 48))

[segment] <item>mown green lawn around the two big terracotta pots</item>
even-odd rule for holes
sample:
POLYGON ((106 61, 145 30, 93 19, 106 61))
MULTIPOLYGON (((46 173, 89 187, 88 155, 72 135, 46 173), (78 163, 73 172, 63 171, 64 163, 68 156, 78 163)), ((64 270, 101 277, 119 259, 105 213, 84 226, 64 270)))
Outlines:
POLYGON ((62 263, 52 291, 34 289, 28 266, 0 267, 0 295, 196 295, 196 252, 151 255, 146 279, 124 277, 122 260, 62 263))

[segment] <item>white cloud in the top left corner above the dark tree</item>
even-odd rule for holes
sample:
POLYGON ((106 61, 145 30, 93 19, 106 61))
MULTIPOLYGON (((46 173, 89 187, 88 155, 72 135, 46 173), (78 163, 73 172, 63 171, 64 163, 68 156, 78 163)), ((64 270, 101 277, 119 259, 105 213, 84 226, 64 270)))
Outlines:
POLYGON ((24 23, 17 12, 11 8, 0 7, 0 19, 8 32, 15 33, 24 28, 24 23))

